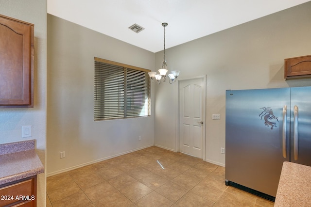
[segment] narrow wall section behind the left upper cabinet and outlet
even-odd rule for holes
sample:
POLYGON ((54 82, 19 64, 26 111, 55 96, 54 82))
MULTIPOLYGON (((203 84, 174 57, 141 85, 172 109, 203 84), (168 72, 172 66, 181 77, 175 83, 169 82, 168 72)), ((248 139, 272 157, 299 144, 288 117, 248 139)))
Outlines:
MULTIPOLYGON (((23 141, 22 126, 32 126, 36 152, 46 166, 46 0, 0 0, 0 14, 35 24, 34 108, 0 109, 0 143, 23 141)), ((46 168, 46 167, 45 167, 46 168)), ((1 169, 2 170, 2 169, 1 169)), ((46 204, 46 173, 37 177, 37 206, 46 204)))

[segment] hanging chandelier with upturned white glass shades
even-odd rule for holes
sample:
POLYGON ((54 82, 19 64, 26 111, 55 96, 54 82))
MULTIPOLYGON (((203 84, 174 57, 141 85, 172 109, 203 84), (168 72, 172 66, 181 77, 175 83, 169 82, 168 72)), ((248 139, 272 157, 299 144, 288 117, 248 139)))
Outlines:
POLYGON ((165 82, 166 78, 168 77, 170 84, 175 82, 177 80, 177 77, 179 75, 179 70, 173 70, 172 73, 166 75, 167 73, 167 65, 165 60, 165 27, 167 26, 167 23, 162 23, 162 26, 164 27, 164 57, 162 61, 162 67, 159 69, 159 74, 156 74, 156 72, 149 72, 148 75, 152 82, 160 84, 161 81, 165 82))

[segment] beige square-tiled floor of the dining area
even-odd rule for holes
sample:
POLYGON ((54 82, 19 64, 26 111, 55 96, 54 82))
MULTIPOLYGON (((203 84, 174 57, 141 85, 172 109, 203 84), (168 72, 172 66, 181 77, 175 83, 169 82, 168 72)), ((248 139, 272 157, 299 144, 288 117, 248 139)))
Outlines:
POLYGON ((273 207, 225 185, 225 168, 149 147, 47 178, 47 207, 273 207))

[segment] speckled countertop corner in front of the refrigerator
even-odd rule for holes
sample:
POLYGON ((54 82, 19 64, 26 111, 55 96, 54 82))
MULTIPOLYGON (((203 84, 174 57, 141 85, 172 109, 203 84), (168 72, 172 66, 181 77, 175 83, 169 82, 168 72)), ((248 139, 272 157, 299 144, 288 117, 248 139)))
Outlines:
POLYGON ((276 192, 275 207, 311 206, 311 167, 284 162, 276 192))

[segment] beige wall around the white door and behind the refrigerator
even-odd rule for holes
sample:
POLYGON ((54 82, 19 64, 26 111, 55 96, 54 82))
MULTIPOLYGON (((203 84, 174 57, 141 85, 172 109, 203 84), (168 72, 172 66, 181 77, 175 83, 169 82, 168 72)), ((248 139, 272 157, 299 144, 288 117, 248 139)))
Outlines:
MULTIPOLYGON (((310 19, 308 2, 167 49, 168 67, 180 70, 180 79, 207 75, 207 161, 225 165, 220 148, 225 147, 226 89, 311 85, 311 79, 283 78, 285 58, 311 55, 310 19), (220 114, 221 120, 212 120, 213 113, 220 114)), ((155 68, 160 67, 162 59, 162 52, 155 54, 155 68)), ((178 150, 177 95, 177 84, 155 86, 155 144, 172 150, 178 150)))

